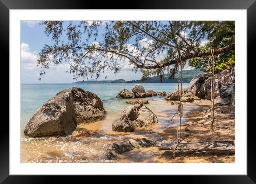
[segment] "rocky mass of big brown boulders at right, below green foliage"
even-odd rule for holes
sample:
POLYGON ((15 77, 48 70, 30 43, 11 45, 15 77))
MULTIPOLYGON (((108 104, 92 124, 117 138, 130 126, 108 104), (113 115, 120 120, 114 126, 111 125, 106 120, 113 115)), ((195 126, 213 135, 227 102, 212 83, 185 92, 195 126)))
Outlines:
MULTIPOLYGON (((218 96, 220 97, 225 96, 225 98, 227 98, 227 96, 229 95, 232 96, 233 90, 227 90, 227 88, 231 88, 228 86, 232 86, 232 89, 233 89, 233 86, 235 85, 234 83, 235 83, 235 66, 229 69, 225 69, 220 73, 217 73, 216 75, 214 75, 214 92, 213 92, 214 98, 218 96), (229 93, 227 94, 227 91, 230 91, 231 94, 229 93)), ((194 77, 189 83, 186 92, 192 92, 195 96, 199 98, 211 99, 210 74, 201 73, 196 77, 194 77)))

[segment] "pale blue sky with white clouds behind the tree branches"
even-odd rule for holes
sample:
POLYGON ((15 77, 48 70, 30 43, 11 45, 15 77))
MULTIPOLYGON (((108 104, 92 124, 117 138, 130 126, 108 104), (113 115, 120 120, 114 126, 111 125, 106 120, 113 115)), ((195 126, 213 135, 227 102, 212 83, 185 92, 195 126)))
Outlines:
MULTIPOLYGON (((104 33, 104 25, 99 28, 99 36, 97 37, 97 42, 102 41, 102 34, 104 33)), ((36 67, 38 53, 45 44, 53 45, 50 37, 47 37, 44 33, 44 26, 39 25, 39 21, 21 21, 21 40, 20 40, 20 62, 21 62, 21 83, 72 83, 74 82, 72 75, 67 73, 69 70, 69 65, 67 63, 62 63, 59 66, 50 66, 46 70, 46 74, 42 77, 41 81, 38 80, 40 67, 36 67)), ((65 40, 65 37, 63 37, 65 40)), ((89 42, 94 42, 94 39, 89 40, 89 42)), ((159 59, 161 57, 159 56, 159 59)), ((188 66, 184 68, 191 69, 188 66)), ((142 77, 142 73, 138 71, 137 73, 132 72, 132 68, 124 67, 121 71, 114 75, 113 72, 107 71, 107 80, 115 80, 123 78, 124 80, 139 80, 142 77)), ((104 80, 105 74, 101 75, 98 80, 104 80)), ((89 78, 88 78, 89 79, 89 78)), ((83 78, 78 79, 82 81, 83 78)), ((85 79, 86 80, 86 79, 85 79)))

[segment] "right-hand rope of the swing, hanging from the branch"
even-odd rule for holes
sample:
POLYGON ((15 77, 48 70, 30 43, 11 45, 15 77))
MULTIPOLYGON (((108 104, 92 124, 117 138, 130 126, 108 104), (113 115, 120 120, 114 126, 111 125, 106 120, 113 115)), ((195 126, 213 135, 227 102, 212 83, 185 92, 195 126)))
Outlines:
POLYGON ((215 65, 215 57, 219 58, 217 55, 214 55, 214 49, 211 49, 211 56, 208 60, 208 68, 210 68, 210 60, 211 60, 211 127, 212 131, 212 145, 214 145, 214 65, 215 65))

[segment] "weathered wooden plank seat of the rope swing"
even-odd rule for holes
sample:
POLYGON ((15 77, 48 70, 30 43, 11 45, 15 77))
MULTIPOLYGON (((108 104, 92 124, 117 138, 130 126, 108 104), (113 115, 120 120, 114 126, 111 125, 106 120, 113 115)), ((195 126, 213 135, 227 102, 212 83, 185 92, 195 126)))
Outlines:
MULTIPOLYGON (((175 144, 176 140, 163 140, 159 149, 171 149, 175 144)), ((217 140, 214 145, 211 141, 181 141, 178 149, 235 150, 235 145, 231 140, 217 140)))

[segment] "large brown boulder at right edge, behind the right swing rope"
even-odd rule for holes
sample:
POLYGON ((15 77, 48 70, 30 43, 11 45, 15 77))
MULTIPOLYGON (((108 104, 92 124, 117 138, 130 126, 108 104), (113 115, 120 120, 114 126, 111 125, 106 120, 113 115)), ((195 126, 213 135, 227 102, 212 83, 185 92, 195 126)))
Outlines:
MULTIPOLYGON (((216 98, 220 96, 221 89, 227 86, 234 80, 235 66, 225 69, 214 76, 214 91, 213 96, 216 98)), ((211 77, 209 77, 203 84, 205 98, 211 99, 211 77)))

